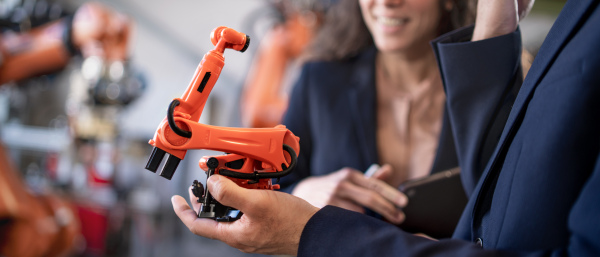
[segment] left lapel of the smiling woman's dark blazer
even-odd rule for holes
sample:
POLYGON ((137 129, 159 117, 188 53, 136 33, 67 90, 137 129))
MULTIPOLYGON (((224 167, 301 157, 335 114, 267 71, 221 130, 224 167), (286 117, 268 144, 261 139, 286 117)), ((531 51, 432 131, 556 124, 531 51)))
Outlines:
POLYGON ((364 164, 378 162, 377 139, 375 126, 376 93, 375 93, 375 48, 365 51, 351 67, 347 84, 354 85, 347 91, 349 110, 353 114, 353 124, 356 128, 360 150, 364 156, 364 164))

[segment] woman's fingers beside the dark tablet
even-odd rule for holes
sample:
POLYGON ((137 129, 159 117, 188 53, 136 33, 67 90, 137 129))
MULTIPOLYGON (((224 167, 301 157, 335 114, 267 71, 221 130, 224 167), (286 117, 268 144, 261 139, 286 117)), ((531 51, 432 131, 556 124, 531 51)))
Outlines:
POLYGON ((392 223, 404 221, 404 213, 377 192, 345 181, 340 184, 338 194, 383 215, 392 223))

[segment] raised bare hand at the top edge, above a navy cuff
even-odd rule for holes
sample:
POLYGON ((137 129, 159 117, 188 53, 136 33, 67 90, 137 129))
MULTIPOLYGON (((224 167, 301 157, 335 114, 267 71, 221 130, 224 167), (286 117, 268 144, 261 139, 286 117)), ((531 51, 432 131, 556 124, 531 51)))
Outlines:
POLYGON ((472 41, 512 33, 535 0, 479 0, 472 41))

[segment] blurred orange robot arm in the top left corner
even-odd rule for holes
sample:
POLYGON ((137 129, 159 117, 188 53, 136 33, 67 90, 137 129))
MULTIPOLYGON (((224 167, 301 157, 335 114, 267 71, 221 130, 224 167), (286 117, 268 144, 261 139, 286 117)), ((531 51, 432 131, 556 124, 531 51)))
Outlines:
POLYGON ((28 32, 0 34, 0 85, 64 68, 72 55, 127 58, 131 20, 99 3, 28 32))

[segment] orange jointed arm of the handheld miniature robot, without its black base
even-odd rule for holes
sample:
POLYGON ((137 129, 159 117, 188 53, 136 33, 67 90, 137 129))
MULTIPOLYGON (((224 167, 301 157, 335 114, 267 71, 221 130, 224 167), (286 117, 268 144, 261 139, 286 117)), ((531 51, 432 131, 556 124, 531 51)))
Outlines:
POLYGON ((189 149, 238 154, 261 162, 265 169, 273 169, 273 172, 289 168, 292 157, 284 145, 288 145, 294 155, 297 155, 300 147, 298 138, 284 126, 227 128, 197 122, 224 66, 223 52, 226 48, 245 51, 249 40, 247 35, 230 28, 218 27, 213 30, 211 42, 215 48, 204 55, 183 96, 169 105, 167 117, 150 140, 154 149, 146 169, 156 172, 165 154, 169 153, 160 175, 171 179, 189 149))

